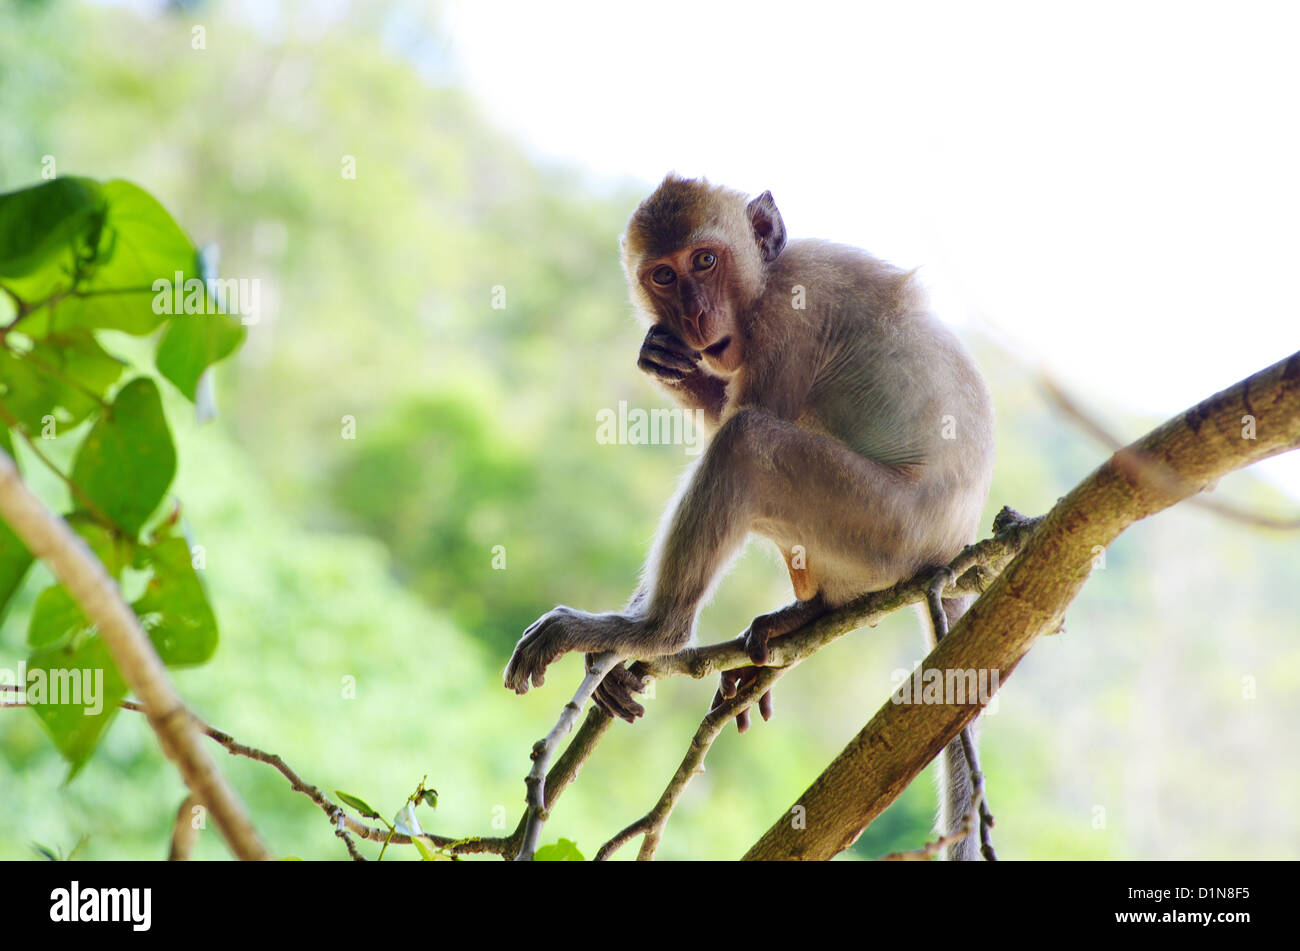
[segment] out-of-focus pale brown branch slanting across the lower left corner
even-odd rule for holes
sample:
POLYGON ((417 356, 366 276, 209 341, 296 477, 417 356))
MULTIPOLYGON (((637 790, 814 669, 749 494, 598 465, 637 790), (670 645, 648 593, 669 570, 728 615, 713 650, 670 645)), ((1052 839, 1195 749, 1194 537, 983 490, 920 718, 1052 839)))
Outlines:
POLYGON ((176 763, 190 791, 208 807, 230 850, 240 859, 269 859, 238 795, 203 750, 188 711, 139 618, 86 543, 32 495, 4 451, 0 451, 0 517, 27 551, 48 565, 99 629, 122 679, 143 700, 162 752, 176 763))

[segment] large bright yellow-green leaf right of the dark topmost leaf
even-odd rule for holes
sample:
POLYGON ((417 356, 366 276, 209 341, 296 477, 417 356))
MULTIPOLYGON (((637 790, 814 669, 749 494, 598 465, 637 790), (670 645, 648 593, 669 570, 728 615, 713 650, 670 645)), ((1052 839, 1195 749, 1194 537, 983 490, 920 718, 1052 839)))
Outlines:
MULTIPOLYGON (((100 186, 108 204, 96 262, 58 301, 55 327, 112 327, 148 334, 172 311, 173 287, 199 278, 199 252, 166 209, 143 188, 112 181, 100 186), (179 274, 179 282, 177 275, 179 274), (155 290, 165 281, 166 290, 155 290)), ((207 309, 207 292, 200 291, 207 309)))

